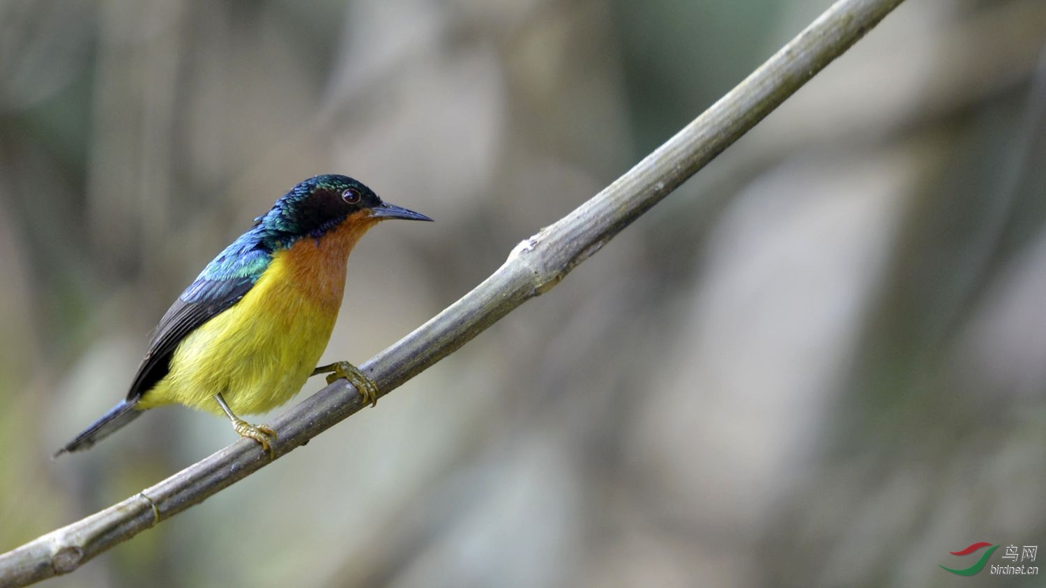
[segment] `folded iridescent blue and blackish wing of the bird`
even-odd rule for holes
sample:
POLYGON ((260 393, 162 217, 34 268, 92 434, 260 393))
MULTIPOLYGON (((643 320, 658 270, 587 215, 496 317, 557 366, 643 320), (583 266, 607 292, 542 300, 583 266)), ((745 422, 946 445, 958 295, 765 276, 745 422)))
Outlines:
POLYGON ((271 251, 251 232, 226 248, 160 319, 138 367, 128 401, 136 401, 163 379, 178 344, 197 327, 240 302, 272 260, 271 251))

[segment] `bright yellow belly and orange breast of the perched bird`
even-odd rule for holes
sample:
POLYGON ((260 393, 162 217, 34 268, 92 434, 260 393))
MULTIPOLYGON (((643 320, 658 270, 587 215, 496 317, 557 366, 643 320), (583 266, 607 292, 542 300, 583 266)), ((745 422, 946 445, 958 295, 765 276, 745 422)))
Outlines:
MULTIPOLYGON (((312 257, 313 246, 302 243, 301 251, 312 257)), ((338 317, 347 252, 328 267, 310 263, 308 272, 303 257, 290 253, 277 254, 240 302, 185 337, 169 372, 142 395, 139 408, 177 403, 221 415, 213 396, 222 393, 233 413, 250 415, 271 410, 301 390, 338 317)))

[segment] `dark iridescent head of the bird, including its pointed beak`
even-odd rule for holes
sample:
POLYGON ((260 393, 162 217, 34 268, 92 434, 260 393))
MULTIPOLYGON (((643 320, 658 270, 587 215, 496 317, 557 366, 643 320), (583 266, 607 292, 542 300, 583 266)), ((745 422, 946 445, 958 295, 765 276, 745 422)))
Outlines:
POLYGON ((319 238, 346 221, 369 226, 388 218, 432 220, 382 202, 370 188, 347 175, 326 174, 310 178, 292 188, 256 219, 256 225, 292 238, 319 238))

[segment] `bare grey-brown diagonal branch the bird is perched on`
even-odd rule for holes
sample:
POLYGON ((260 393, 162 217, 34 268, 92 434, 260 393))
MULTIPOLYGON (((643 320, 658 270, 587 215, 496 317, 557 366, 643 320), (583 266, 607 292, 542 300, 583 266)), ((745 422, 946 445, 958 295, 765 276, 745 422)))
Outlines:
MULTIPOLYGON (((840 0, 767 63, 629 172, 517 245, 475 289, 363 366, 388 394, 525 301, 558 284, 879 23, 902 0, 840 0)), ((339 380, 276 419, 273 460, 361 408, 339 380)), ((0 556, 0 586, 68 573, 271 461, 240 440, 142 492, 0 556)))

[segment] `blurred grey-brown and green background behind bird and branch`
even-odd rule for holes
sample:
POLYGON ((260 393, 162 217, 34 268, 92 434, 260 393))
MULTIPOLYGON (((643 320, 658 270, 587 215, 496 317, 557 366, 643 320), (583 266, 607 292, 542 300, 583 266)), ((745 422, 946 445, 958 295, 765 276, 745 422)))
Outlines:
MULTIPOLYGON (((828 4, 3 2, 0 550, 235 440, 162 408, 50 460, 299 180, 436 219, 353 255, 362 362, 828 4)), ((1040 0, 906 3, 548 295, 46 585, 952 586, 1046 543, 1044 47, 1040 0)))

